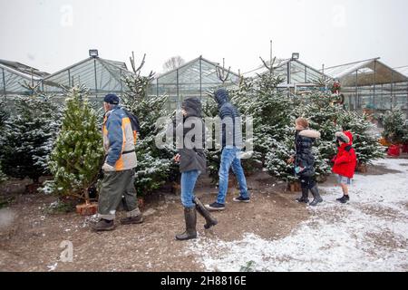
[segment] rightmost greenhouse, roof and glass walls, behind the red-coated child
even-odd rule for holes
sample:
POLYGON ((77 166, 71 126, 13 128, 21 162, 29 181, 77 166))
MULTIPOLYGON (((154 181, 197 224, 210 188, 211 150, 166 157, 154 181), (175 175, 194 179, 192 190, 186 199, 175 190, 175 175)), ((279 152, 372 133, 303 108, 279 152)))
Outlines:
POLYGON ((350 110, 408 110, 408 77, 379 58, 329 67, 325 73, 341 83, 350 110))

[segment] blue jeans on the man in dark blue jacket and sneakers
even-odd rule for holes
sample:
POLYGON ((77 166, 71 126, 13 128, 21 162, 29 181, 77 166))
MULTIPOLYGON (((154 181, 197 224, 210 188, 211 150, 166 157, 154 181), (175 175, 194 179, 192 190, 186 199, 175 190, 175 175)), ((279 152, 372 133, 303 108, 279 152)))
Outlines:
POLYGON ((224 148, 221 154, 221 165, 219 166, 219 196, 217 202, 225 204, 228 190, 228 174, 232 166, 232 171, 238 179, 239 191, 242 198, 249 198, 247 179, 245 179, 244 169, 239 159, 240 150, 237 147, 224 148))

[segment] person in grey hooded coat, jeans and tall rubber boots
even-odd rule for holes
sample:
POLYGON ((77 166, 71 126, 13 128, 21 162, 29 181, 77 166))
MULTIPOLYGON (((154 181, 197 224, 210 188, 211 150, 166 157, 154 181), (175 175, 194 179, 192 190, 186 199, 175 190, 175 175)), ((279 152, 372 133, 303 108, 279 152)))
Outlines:
POLYGON ((197 211, 206 219, 205 228, 217 225, 199 198, 194 195, 194 188, 199 175, 206 172, 206 155, 204 153, 205 126, 201 117, 201 102, 197 98, 186 99, 181 104, 182 120, 173 120, 170 130, 181 144, 179 153, 174 157, 180 163, 181 203, 184 207, 186 230, 176 235, 178 240, 197 237, 197 211), (182 139, 182 140, 181 140, 182 139))

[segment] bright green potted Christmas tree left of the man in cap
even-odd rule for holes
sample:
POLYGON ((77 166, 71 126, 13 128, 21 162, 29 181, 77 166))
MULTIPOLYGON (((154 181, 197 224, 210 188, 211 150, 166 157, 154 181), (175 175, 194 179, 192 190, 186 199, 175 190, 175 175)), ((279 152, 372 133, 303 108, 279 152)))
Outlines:
POLYGON ((63 125, 51 154, 53 189, 89 200, 88 189, 102 166, 102 132, 82 87, 67 92, 63 125))

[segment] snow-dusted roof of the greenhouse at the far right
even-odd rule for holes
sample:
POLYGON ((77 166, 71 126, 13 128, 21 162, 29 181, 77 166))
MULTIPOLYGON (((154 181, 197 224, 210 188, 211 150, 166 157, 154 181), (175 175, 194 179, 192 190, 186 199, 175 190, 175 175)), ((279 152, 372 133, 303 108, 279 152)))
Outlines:
POLYGON ((325 73, 339 80, 343 86, 370 86, 394 82, 408 82, 407 76, 399 73, 379 58, 356 63, 346 63, 325 69, 325 73))

